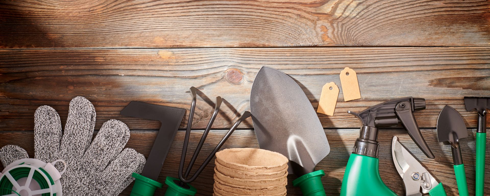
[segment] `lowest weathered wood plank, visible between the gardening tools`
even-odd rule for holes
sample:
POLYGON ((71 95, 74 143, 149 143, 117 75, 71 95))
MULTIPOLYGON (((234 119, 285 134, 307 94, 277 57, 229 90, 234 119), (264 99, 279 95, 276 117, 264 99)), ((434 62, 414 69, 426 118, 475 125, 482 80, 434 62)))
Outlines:
MULTIPOLYGON (((468 182, 469 195, 474 195, 474 161, 475 161, 475 130, 468 129, 469 137, 461 140, 463 151, 463 160, 466 169, 466 178, 468 182)), ((165 165, 159 177, 160 182, 164 182, 166 176, 177 176, 178 162, 183 145, 184 131, 179 131, 172 144, 165 165)), ((202 153, 199 155, 196 164, 202 163, 210 151, 218 144, 224 136, 225 130, 212 130, 208 135, 202 153)), ((429 159, 418 149, 412 142, 404 129, 380 129, 379 142, 380 146, 380 174, 383 181, 398 195, 404 195, 405 188, 401 178, 396 173, 392 163, 391 140, 393 136, 398 136, 400 142, 414 154, 414 156, 432 173, 432 175, 444 184, 448 196, 456 196, 458 193, 456 181, 454 178, 451 150, 447 145, 437 142, 437 132, 434 129, 422 129, 423 136, 428 145, 436 155, 436 159, 429 159)), ((193 151, 198 143, 202 130, 193 131, 191 134, 190 150, 193 151)), ((358 137, 358 129, 325 129, 331 151, 330 154, 319 163, 318 170, 324 170, 326 176, 322 178, 325 191, 328 196, 339 195, 342 184, 343 173, 347 159, 350 154, 355 138, 358 137)), ((132 131, 131 138, 126 147, 135 148, 138 152, 148 155, 152 141, 156 136, 154 131, 132 131)), ((33 156, 34 137, 32 131, 14 131, 0 132, 0 147, 8 144, 16 144, 24 147, 29 155, 33 156)), ((490 139, 487 139, 490 140, 490 139)), ((489 141, 488 141, 489 142, 489 141)), ((257 139, 253 130, 237 130, 225 143, 223 148, 230 147, 258 147, 257 139)), ((489 147, 488 147, 489 148, 489 147)), ((191 156, 192 154, 188 154, 191 156)), ((490 161, 490 150, 487 149, 487 162, 490 161)), ((189 159, 187 159, 189 160, 189 159)), ((202 172, 202 174, 193 182, 198 190, 198 195, 209 196, 213 188, 213 167, 214 161, 202 172)), ((490 167, 490 166, 489 166, 490 167)), ((486 181, 490 181, 490 168, 487 167, 486 181)), ((299 189, 292 186, 291 180, 295 177, 290 175, 288 184, 288 195, 301 196, 299 189)), ((490 190, 490 184, 485 185, 486 190, 490 190)), ((123 192, 122 195, 129 195, 131 186, 123 192)), ((158 190, 156 195, 163 195, 165 188, 158 190)))

